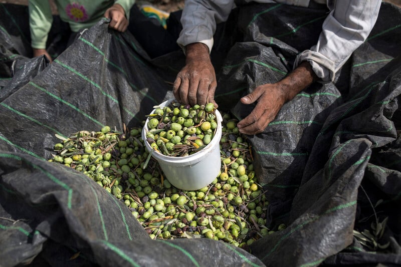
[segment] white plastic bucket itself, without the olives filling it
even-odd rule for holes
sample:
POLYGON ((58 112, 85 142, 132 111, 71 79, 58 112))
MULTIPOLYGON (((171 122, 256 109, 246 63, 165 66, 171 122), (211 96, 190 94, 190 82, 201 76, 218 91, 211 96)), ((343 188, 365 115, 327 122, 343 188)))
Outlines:
MULTIPOLYGON (((167 106, 174 99, 167 100, 159 106, 167 106)), ((154 110, 152 111, 152 113, 154 110)), ((145 126, 142 129, 142 139, 146 149, 152 150, 146 141, 148 132, 146 119, 145 126)), ((212 141, 202 150, 185 157, 170 157, 157 151, 152 152, 152 157, 159 163, 164 175, 168 181, 175 187, 182 190, 198 190, 215 180, 221 168, 220 158, 220 139, 222 137, 222 115, 216 110, 217 128, 212 141)))

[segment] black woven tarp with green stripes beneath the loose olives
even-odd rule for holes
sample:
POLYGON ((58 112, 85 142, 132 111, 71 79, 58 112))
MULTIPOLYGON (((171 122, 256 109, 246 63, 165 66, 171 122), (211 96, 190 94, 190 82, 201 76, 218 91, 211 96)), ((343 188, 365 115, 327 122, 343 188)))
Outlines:
MULTIPOLYGON (((219 109, 244 117, 249 108, 235 106, 238 99, 284 77, 316 42, 323 22, 316 18, 325 12, 259 4, 233 12, 212 52, 219 109)), ((207 238, 151 240, 115 197, 46 161, 55 134, 138 125, 172 97, 183 53, 150 59, 132 34, 102 20, 48 65, 30 59, 26 14, 26 7, 0 5, 1 266, 401 264, 398 8, 382 4, 368 40, 335 83, 307 88, 250 137, 270 201, 267 226, 287 225, 256 241, 252 253, 207 238), (371 253, 352 230, 371 230, 375 216, 388 217, 378 242, 389 245, 371 253)))

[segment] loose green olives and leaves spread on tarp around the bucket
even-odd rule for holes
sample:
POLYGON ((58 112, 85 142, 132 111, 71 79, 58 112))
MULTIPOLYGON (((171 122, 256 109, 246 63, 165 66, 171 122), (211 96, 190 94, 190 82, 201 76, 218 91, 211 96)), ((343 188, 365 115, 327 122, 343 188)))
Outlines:
POLYGON ((144 147, 142 128, 74 133, 55 144, 49 161, 85 173, 122 201, 151 238, 206 237, 247 249, 273 231, 265 226, 268 201, 253 170, 251 147, 236 122, 223 115, 221 170, 196 191, 177 189, 164 178, 144 147))

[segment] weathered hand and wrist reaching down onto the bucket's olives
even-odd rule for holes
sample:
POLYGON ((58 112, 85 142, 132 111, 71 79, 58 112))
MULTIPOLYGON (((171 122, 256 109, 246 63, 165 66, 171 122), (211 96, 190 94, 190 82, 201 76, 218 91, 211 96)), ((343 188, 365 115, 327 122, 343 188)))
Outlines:
POLYGON ((191 106, 215 102, 217 86, 215 68, 209 55, 209 48, 202 43, 185 47, 185 67, 178 73, 173 84, 175 99, 191 106))

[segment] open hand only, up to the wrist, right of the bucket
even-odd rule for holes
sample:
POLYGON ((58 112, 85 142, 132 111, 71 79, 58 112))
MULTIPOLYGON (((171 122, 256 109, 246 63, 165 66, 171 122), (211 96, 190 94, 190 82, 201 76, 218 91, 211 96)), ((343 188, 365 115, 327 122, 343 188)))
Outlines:
POLYGON ((286 94, 276 84, 258 86, 251 94, 241 98, 243 104, 257 102, 252 112, 239 123, 237 127, 242 134, 258 134, 274 120, 281 107, 286 102, 286 94))

